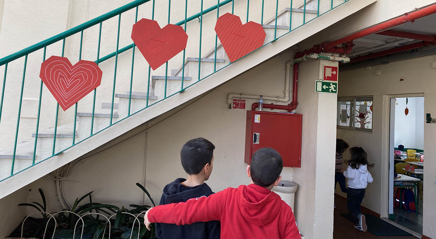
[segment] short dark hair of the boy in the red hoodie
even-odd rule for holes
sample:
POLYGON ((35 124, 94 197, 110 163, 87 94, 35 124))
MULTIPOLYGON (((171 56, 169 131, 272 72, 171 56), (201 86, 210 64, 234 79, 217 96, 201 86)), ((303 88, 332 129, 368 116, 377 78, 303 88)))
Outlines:
POLYGON ((279 152, 265 147, 254 152, 250 163, 250 174, 254 184, 268 187, 273 184, 283 169, 283 160, 279 152))

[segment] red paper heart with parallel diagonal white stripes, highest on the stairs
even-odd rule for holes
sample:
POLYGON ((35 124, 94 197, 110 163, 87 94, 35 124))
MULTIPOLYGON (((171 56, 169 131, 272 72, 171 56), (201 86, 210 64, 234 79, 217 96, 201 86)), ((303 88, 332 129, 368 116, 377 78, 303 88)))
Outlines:
POLYGON ((266 37, 261 24, 249 21, 242 25, 241 19, 230 13, 218 17, 215 32, 230 62, 261 47, 266 37))

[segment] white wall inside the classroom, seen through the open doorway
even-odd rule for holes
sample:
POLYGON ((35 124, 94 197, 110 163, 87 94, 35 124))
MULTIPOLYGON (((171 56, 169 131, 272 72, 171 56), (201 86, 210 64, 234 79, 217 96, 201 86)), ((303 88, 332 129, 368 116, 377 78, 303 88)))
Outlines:
POLYGON ((424 148, 424 97, 396 98, 395 105, 395 147, 399 144, 405 148, 424 148), (405 108, 409 109, 407 116, 405 108))

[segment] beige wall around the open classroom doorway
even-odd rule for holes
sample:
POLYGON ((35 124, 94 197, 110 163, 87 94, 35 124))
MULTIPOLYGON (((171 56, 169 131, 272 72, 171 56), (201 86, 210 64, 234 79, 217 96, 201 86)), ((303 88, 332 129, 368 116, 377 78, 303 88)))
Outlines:
MULTIPOLYGON (((337 137, 350 146, 358 145, 368 153, 368 160, 375 163, 371 170, 374 182, 368 185, 365 207, 387 216, 388 204, 388 146, 389 146, 389 95, 423 93, 424 113, 436 114, 436 69, 432 68, 434 56, 380 65, 380 76, 374 75, 374 68, 366 71, 356 69, 340 73, 339 96, 374 96, 373 132, 364 133, 350 130, 337 130, 337 137), (405 82, 400 83, 399 79, 405 82)), ((405 97, 405 96, 404 96, 405 97)), ((425 116, 422 116, 425 120, 425 116)), ((423 234, 436 238, 434 222, 436 220, 436 125, 424 123, 424 150, 426 167, 424 179, 424 225, 423 234)), ((337 188, 337 190, 339 190, 337 188)))

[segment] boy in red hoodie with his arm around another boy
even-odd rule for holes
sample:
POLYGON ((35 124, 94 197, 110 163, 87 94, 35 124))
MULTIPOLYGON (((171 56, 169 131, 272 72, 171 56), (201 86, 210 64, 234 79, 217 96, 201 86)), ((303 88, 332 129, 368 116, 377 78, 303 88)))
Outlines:
POLYGON ((221 239, 274 238, 301 239, 292 209, 271 189, 282 179, 283 161, 272 148, 257 150, 247 167, 251 184, 227 188, 209 197, 192 198, 149 209, 144 217, 150 223, 186 225, 221 221, 221 239))

